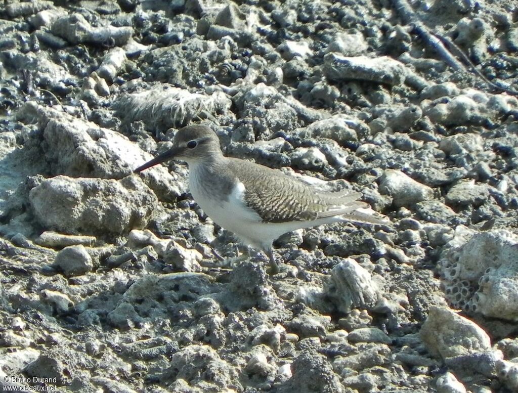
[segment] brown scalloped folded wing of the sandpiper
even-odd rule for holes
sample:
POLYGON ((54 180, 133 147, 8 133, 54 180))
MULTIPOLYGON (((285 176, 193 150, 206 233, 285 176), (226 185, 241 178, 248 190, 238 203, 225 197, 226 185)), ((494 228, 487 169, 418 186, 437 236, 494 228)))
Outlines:
POLYGON ((245 202, 264 222, 312 221, 352 214, 355 209, 367 206, 356 201, 361 196, 359 193, 318 193, 297 179, 263 165, 232 158, 228 165, 244 184, 245 202))

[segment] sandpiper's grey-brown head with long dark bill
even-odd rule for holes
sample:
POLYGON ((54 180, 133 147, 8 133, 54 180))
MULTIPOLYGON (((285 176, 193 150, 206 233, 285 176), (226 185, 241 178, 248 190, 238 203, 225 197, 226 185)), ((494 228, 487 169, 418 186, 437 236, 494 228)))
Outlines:
POLYGON ((178 130, 169 150, 139 166, 134 172, 138 173, 170 159, 185 161, 191 166, 220 156, 222 153, 218 136, 205 125, 189 125, 178 130))

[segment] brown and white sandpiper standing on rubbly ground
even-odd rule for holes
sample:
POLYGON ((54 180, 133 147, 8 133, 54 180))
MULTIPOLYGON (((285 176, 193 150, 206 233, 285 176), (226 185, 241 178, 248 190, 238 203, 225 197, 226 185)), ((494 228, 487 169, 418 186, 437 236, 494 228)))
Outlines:
POLYGON ((360 193, 320 192, 279 170, 225 157, 218 136, 205 125, 181 128, 172 147, 135 169, 138 173, 169 159, 189 166, 189 188, 199 207, 221 227, 268 256, 271 272, 279 267, 272 243, 285 232, 342 221, 386 225, 358 211, 360 193))

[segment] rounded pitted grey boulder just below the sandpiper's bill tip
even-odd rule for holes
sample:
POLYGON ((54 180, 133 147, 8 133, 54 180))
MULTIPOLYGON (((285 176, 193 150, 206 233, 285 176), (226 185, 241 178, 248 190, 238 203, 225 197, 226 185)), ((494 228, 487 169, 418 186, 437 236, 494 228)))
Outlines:
POLYGON ((29 201, 47 229, 103 235, 145 227, 158 203, 134 176, 120 181, 56 176, 34 187, 29 201))

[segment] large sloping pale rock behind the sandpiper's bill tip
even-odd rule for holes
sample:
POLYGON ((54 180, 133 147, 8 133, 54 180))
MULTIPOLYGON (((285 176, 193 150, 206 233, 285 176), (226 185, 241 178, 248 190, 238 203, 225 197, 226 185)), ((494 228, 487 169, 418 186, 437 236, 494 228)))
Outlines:
MULTIPOLYGON (((19 117, 26 121, 36 118, 41 124, 44 140, 51 147, 45 149, 42 156, 51 173, 121 179, 152 158, 151 154, 118 132, 63 111, 38 106, 32 101, 21 108, 19 117)), ((36 142, 39 149, 40 142, 36 142)), ((40 155, 41 152, 32 154, 40 155)), ((178 176, 171 175, 160 165, 142 172, 140 176, 163 200, 184 192, 184 186, 178 184, 178 176)))

